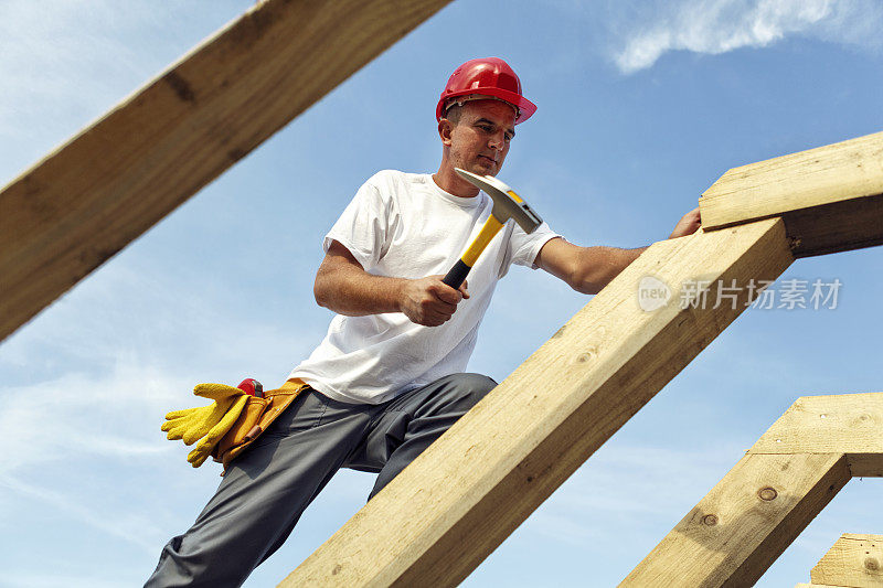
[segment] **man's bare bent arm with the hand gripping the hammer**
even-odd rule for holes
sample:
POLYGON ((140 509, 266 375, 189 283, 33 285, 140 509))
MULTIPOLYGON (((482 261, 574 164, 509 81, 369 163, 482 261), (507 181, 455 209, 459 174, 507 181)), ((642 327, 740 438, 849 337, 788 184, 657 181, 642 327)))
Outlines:
POLYGON ((443 277, 412 280, 373 276, 347 247, 332 240, 312 291, 319 306, 339 314, 404 312, 417 324, 438 327, 450 319, 460 300, 469 298, 465 282, 455 290, 442 281, 443 277))

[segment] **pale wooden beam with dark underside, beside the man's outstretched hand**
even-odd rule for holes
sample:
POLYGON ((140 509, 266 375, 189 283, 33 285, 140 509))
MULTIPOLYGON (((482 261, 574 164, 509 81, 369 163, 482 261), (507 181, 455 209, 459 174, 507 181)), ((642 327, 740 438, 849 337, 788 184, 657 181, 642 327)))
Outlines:
POLYGON ((883 132, 724 173, 700 199, 706 231, 781 216, 796 257, 883 243, 883 132))

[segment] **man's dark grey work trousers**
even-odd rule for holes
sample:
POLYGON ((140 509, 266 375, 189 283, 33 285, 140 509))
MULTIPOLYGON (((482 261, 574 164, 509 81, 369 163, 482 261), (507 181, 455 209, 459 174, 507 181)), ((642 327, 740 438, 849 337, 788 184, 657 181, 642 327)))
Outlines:
POLYGON ((454 374, 379 405, 304 391, 242 456, 146 587, 242 585, 278 549, 340 468, 379 472, 368 500, 497 383, 454 374))

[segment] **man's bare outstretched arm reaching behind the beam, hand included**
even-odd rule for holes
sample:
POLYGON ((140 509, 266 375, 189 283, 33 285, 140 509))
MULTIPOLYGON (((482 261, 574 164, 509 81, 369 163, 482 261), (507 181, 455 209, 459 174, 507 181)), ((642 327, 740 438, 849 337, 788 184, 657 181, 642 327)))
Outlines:
MULTIPOLYGON (((699 209, 684 214, 669 238, 683 237, 700 227, 699 209)), ((543 245, 536 255, 536 265, 561 278, 577 292, 595 295, 610 284, 647 247, 619 249, 617 247, 579 247, 563 238, 543 245)))

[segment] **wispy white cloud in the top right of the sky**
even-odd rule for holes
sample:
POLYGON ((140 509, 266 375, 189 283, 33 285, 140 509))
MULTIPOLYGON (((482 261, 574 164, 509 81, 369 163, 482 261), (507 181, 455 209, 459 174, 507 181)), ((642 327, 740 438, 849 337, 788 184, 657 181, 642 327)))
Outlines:
POLYGON ((613 58, 628 74, 652 66, 669 51, 716 55, 789 35, 877 47, 881 23, 883 7, 870 0, 684 0, 632 22, 613 58))

